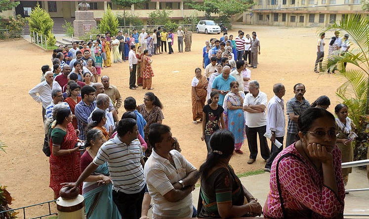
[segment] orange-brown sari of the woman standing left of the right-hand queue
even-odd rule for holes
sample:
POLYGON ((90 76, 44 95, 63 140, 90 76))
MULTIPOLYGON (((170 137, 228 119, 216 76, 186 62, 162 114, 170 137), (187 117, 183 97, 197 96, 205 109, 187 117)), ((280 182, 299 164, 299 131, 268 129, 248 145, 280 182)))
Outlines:
POLYGON ((196 84, 194 82, 196 76, 192 80, 192 87, 195 87, 196 95, 200 98, 200 100, 196 100, 195 93, 191 92, 192 99, 192 120, 196 121, 197 119, 203 119, 203 109, 205 106, 205 100, 207 95, 207 79, 204 75, 201 75, 201 78, 198 79, 199 82, 196 84), (196 86, 194 86, 196 84, 196 86))

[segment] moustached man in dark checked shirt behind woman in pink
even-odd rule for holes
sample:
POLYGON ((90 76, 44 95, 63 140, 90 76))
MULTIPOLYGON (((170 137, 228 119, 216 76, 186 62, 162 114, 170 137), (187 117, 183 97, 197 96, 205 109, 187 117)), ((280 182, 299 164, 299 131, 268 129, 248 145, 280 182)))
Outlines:
POLYGON ((287 101, 286 113, 288 115, 288 124, 286 146, 290 146, 295 142, 298 132, 298 117, 302 114, 302 112, 310 108, 309 101, 304 98, 305 92, 305 85, 297 83, 293 86, 293 93, 295 94, 295 96, 287 101))

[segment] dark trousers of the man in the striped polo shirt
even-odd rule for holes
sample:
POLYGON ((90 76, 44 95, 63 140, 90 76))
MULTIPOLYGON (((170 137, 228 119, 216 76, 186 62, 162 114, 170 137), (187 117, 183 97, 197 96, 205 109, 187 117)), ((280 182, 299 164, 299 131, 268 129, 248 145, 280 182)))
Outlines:
POLYGON ((121 191, 113 190, 113 201, 121 213, 122 219, 141 218, 142 200, 145 194, 145 187, 138 193, 126 194, 121 191))

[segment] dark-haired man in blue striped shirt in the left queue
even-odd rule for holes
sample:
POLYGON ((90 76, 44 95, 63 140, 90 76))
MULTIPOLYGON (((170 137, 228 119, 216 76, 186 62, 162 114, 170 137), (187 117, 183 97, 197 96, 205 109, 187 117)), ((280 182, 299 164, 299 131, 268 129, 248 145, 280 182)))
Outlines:
POLYGON ((88 124, 88 117, 96 108, 95 102, 95 88, 91 86, 84 86, 81 89, 82 101, 75 107, 75 114, 77 118, 78 129, 80 130, 79 138, 86 140, 85 131, 88 124))

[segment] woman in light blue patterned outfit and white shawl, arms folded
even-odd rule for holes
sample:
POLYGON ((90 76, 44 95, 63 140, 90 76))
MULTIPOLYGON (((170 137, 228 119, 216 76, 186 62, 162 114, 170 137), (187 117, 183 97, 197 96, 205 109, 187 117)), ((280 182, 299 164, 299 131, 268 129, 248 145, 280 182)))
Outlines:
POLYGON ((231 82, 231 92, 224 97, 224 123, 225 129, 231 131, 235 136, 235 152, 243 154, 241 146, 244 144, 245 118, 244 118, 244 99, 245 93, 238 90, 238 82, 231 82))

